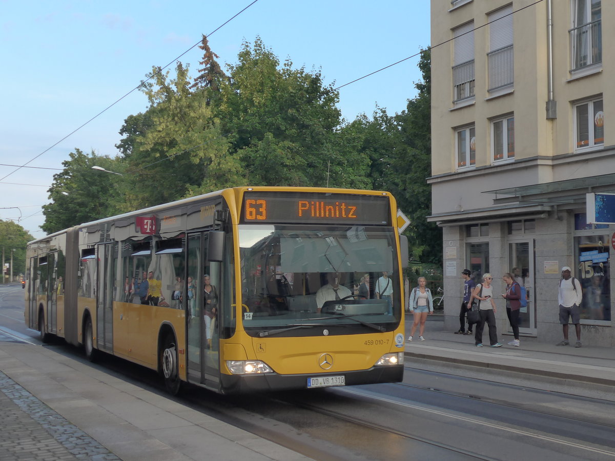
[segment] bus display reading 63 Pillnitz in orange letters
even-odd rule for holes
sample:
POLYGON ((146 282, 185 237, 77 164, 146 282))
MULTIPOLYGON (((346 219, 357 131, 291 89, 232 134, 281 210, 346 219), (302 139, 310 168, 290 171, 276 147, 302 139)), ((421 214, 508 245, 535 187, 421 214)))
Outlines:
POLYGON ((389 197, 380 195, 247 192, 242 207, 242 223, 383 226, 390 221, 389 197))

